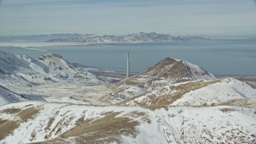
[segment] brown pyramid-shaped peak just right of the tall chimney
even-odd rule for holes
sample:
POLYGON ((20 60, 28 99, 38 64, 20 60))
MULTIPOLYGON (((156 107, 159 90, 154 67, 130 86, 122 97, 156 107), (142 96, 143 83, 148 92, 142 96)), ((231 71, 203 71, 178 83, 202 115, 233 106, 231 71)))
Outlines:
POLYGON ((135 78, 149 78, 150 82, 167 80, 168 82, 176 83, 198 79, 210 80, 215 77, 213 74, 190 62, 165 58, 141 74, 138 74, 135 78))

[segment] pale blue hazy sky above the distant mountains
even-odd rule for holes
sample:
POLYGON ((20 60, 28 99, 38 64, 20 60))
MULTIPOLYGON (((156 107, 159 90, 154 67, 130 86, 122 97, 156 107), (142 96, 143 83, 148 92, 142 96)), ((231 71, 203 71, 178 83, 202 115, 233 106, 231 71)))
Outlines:
POLYGON ((0 0, 0 35, 250 35, 255 0, 0 0))

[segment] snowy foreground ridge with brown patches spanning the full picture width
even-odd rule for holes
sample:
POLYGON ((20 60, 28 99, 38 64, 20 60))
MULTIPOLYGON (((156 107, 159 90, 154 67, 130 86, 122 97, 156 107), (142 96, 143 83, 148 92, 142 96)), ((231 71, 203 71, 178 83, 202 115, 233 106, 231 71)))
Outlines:
POLYGON ((249 143, 256 133, 256 110, 236 106, 149 110, 19 102, 0 112, 0 127, 14 124, 0 133, 7 143, 249 143))

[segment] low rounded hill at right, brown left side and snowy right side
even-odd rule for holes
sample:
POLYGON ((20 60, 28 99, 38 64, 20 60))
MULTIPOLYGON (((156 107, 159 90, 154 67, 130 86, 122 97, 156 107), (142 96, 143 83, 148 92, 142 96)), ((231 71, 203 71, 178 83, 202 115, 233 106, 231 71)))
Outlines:
POLYGON ((165 86, 119 104, 128 106, 214 106, 224 103, 233 105, 232 102, 236 101, 242 102, 241 105, 256 106, 256 90, 234 78, 225 78, 165 86))

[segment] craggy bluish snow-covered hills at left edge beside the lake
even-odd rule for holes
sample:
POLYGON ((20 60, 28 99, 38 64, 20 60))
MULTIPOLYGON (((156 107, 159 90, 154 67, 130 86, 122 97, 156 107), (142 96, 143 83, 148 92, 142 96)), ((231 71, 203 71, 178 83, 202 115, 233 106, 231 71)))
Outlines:
POLYGON ((59 54, 46 54, 38 59, 0 50, 0 84, 33 86, 44 82, 61 82, 79 78, 99 82, 90 72, 67 62, 59 54))

